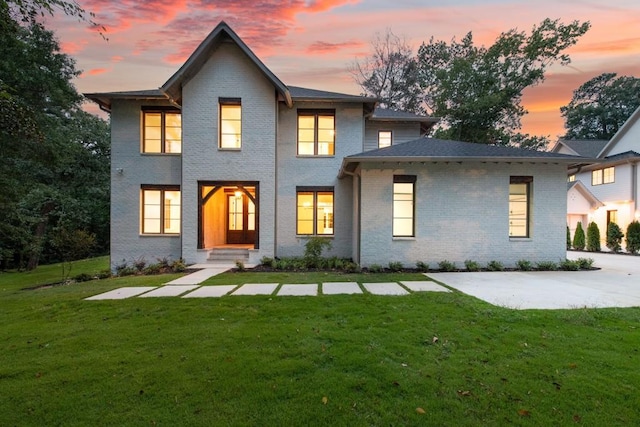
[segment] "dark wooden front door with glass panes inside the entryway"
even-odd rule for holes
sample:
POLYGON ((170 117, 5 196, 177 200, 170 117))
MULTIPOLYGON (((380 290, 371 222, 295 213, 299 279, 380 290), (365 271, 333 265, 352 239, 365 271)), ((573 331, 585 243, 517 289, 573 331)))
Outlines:
POLYGON ((227 193, 227 244, 253 244, 256 205, 242 191, 227 193))

